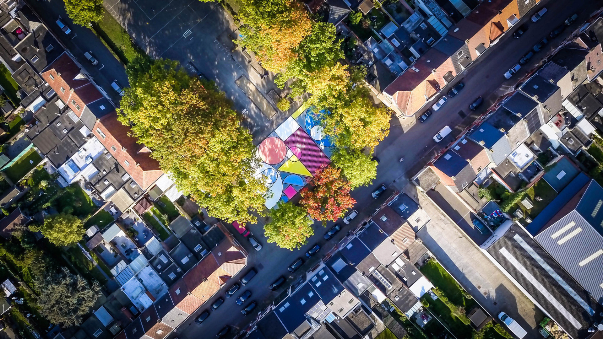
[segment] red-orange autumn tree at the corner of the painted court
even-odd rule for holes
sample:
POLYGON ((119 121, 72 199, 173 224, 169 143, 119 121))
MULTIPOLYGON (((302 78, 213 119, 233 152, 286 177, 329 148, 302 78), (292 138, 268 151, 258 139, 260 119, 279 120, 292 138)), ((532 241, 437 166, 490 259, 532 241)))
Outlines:
POLYGON ((300 191, 300 204, 310 217, 318 221, 335 221, 352 208, 356 200, 350 196, 350 183, 341 177, 341 169, 321 167, 312 180, 313 188, 300 191))

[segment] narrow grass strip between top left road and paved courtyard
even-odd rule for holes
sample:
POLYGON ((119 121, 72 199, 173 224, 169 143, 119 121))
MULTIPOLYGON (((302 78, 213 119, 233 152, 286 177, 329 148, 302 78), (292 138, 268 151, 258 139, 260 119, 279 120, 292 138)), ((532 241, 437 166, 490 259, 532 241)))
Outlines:
MULTIPOLYGON (((147 54, 134 44, 130 34, 119 25, 119 22, 117 22, 107 10, 103 8, 103 11, 103 20, 94 22, 92 28, 96 35, 103 40, 103 43, 107 45, 110 51, 113 51, 118 59, 125 65, 133 62, 133 60, 138 57, 146 59, 147 54)), ((125 84, 121 85, 125 86, 125 84)))

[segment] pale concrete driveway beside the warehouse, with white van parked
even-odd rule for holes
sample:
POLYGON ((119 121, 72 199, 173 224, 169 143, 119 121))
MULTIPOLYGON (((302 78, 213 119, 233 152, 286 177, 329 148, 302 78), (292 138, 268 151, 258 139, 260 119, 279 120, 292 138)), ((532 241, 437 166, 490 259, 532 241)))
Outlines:
MULTIPOLYGON (((411 187, 406 186, 406 190, 411 187)), ((537 338, 536 329, 545 314, 423 192, 408 194, 418 197, 420 206, 431 218, 417 232, 429 252, 492 317, 505 311, 531 333, 529 337, 537 338)))

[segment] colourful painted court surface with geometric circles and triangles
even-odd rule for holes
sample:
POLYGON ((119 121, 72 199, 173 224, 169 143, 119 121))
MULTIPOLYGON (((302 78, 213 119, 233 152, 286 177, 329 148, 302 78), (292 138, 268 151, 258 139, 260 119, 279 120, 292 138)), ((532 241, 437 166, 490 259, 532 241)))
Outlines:
POLYGON ((262 162, 256 176, 267 180, 266 207, 289 201, 306 186, 321 166, 329 165, 332 148, 312 108, 301 106, 280 124, 257 147, 262 162))

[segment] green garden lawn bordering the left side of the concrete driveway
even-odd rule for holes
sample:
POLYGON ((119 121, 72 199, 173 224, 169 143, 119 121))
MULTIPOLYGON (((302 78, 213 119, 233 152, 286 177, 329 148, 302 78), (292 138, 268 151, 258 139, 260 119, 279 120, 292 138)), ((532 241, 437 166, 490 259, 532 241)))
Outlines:
MULTIPOLYGON (((435 287, 439 288, 451 303, 464 307, 467 311, 476 305, 475 300, 467 299, 463 295, 463 288, 446 270, 444 270, 444 267, 434 259, 429 260, 427 264, 421 267, 421 273, 425 274, 427 279, 429 279, 435 287)), ((428 300, 431 304, 431 298, 428 300)))

